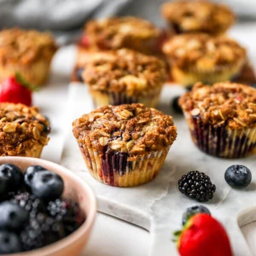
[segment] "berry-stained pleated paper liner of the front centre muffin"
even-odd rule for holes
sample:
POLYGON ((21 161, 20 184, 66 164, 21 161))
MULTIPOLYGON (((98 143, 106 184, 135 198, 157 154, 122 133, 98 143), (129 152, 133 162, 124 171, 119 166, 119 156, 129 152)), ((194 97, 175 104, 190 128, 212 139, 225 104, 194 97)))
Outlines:
POLYGON ((118 187, 131 187, 147 183, 160 172, 170 146, 160 151, 133 156, 128 153, 110 151, 99 153, 79 144, 79 149, 90 174, 98 181, 118 187))

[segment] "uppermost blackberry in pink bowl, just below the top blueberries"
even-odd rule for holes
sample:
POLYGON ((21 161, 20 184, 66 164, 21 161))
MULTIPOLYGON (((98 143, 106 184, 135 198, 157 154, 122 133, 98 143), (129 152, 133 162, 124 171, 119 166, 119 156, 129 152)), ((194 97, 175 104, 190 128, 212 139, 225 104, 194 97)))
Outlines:
POLYGON ((30 218, 35 217, 39 212, 46 212, 44 201, 29 192, 21 192, 15 195, 11 201, 29 212, 30 218))

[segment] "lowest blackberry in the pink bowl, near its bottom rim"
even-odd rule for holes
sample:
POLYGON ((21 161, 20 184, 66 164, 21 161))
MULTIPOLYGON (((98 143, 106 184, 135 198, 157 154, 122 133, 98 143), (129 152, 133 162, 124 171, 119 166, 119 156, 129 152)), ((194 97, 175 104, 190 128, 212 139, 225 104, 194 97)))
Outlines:
POLYGON ((44 213, 30 218, 29 224, 20 232, 22 249, 33 250, 51 244, 65 236, 63 225, 44 213))

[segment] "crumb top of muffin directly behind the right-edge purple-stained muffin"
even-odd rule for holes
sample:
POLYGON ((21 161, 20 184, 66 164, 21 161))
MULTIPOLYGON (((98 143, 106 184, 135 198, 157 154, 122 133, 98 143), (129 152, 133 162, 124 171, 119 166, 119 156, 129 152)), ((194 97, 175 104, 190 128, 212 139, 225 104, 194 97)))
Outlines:
POLYGON ((163 45, 172 65, 186 69, 218 70, 245 61, 246 51, 236 41, 207 34, 177 35, 163 45))

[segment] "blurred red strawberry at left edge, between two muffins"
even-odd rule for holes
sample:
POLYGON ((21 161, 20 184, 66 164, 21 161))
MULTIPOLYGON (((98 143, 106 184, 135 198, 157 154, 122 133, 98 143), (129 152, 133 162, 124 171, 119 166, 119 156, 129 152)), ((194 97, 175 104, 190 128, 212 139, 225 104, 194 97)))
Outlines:
POLYGON ((26 83, 20 74, 10 76, 0 86, 0 102, 32 104, 32 90, 35 87, 26 83))

